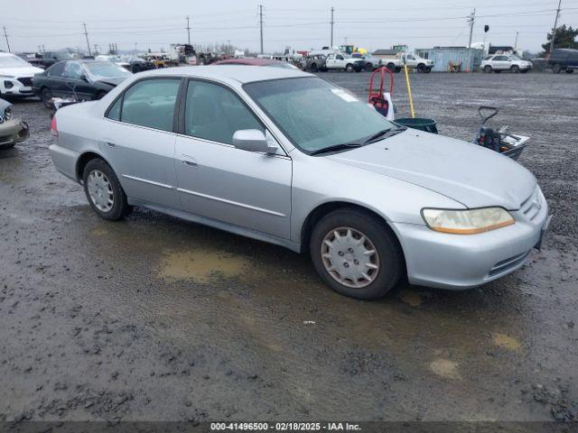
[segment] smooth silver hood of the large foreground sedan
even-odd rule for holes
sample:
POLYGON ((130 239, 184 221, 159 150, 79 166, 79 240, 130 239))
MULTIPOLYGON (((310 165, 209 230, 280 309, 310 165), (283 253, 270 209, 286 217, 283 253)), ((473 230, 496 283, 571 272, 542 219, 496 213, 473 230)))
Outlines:
POLYGON ((465 207, 518 209, 536 189, 532 173, 498 152, 411 129, 327 158, 431 189, 465 207))

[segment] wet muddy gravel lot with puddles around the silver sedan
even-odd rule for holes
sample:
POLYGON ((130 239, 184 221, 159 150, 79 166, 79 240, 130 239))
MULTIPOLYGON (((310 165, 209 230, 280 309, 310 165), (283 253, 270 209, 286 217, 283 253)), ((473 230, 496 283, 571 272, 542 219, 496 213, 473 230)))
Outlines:
MULTIPOLYGON (((367 73, 322 76, 367 95, 367 73)), ((555 217, 483 288, 363 302, 277 246, 145 209, 105 222, 54 170, 49 112, 14 103, 32 134, 0 151, 0 421, 578 419, 578 75, 412 80, 441 134, 470 139, 490 104, 532 136, 520 163, 555 217)))

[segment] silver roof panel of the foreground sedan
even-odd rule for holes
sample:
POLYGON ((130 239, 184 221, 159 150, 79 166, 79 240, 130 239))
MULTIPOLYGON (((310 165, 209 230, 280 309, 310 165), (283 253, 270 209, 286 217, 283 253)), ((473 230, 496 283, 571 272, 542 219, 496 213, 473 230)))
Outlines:
POLYGON ((252 65, 182 66, 178 68, 153 69, 140 72, 138 77, 182 76, 194 78, 214 78, 225 82, 250 83, 268 79, 314 77, 299 69, 262 68, 252 65))

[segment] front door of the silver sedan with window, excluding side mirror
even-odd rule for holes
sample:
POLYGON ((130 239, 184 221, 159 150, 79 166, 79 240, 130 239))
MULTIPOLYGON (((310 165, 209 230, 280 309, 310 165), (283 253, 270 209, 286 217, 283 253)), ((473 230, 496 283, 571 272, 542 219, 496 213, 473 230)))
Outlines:
MULTIPOLYGON (((183 210, 284 239, 290 237, 291 159, 232 145, 238 130, 266 127, 232 89, 191 79, 175 163, 183 210)), ((274 140, 270 137, 271 140, 274 140)))

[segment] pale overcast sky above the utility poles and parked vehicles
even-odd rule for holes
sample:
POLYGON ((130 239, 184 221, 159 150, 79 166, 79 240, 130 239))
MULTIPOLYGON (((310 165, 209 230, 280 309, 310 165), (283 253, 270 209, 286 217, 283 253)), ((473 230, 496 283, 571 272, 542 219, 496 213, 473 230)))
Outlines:
MULTIPOLYGON (((472 41, 487 41, 538 51, 552 28, 558 0, 18 0, 0 1, 0 25, 6 27, 12 51, 54 50, 87 43, 107 50, 116 42, 121 50, 159 51, 170 43, 186 42, 185 15, 191 16, 193 43, 230 43, 259 49, 257 5, 264 6, 265 51, 321 48, 330 43, 331 7, 335 8, 333 44, 376 50, 394 44, 411 48, 466 45, 467 15, 476 8, 472 41), (406 4, 406 6, 404 6, 406 4), (8 7, 13 5, 14 7, 8 7), (16 7, 17 5, 17 7, 16 7)), ((559 24, 578 27, 578 0, 562 0, 559 24)), ((0 50, 6 51, 5 38, 0 50)))

